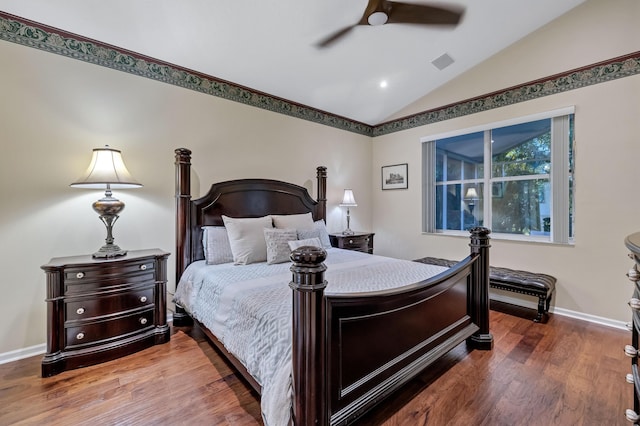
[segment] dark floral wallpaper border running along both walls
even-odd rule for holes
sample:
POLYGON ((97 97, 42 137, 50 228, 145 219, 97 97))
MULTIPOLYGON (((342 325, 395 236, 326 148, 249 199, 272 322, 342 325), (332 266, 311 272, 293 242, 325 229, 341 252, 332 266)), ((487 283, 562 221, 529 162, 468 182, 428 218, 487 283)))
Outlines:
POLYGON ((0 11, 0 40, 365 136, 381 136, 640 74, 640 52, 370 126, 0 11))

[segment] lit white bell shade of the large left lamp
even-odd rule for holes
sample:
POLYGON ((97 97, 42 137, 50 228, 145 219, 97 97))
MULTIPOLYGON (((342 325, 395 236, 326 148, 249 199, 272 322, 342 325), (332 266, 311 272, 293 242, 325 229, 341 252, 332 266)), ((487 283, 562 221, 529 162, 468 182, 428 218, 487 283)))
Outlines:
POLYGON ((107 184, 114 189, 142 186, 127 170, 122 153, 108 146, 93 150, 91 163, 84 175, 70 186, 101 189, 107 184))

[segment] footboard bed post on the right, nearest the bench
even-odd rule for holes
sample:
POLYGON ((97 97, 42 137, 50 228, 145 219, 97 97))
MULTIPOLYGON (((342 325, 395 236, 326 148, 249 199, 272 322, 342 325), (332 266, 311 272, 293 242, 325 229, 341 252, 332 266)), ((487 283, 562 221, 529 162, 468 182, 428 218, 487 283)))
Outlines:
POLYGON ((493 336, 489 332, 489 234, 487 228, 478 226, 470 229, 471 254, 478 259, 473 264, 471 288, 471 320, 480 327, 467 341, 476 349, 493 348, 493 336))

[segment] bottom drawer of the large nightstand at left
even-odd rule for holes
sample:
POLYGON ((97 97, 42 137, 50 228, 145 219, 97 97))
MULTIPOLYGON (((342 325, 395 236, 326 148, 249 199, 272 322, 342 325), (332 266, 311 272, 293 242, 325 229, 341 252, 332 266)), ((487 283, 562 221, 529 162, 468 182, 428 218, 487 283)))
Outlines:
POLYGON ((122 338, 127 334, 153 326, 153 308, 109 320, 87 322, 66 329, 65 348, 85 346, 111 338, 122 338))

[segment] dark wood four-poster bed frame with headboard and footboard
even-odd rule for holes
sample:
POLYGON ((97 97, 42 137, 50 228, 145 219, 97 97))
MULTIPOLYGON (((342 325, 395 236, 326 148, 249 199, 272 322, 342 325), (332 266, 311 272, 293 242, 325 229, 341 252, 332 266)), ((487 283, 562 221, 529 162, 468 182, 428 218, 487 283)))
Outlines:
MULTIPOLYGON (((189 265, 204 263, 203 227, 222 227, 223 216, 261 218, 310 212, 314 221, 325 219, 324 167, 317 168, 316 200, 301 186, 269 179, 216 183, 205 196, 192 200, 191 151, 181 148, 175 153, 178 287, 193 285, 189 281, 193 274, 187 278, 183 274, 187 275, 185 270, 189 265)), ((328 282, 331 285, 337 280, 325 279, 325 273, 344 267, 329 263, 328 256, 331 258, 333 251, 344 250, 310 246, 293 250, 292 263, 279 270, 286 267, 292 277, 282 282, 282 287, 289 284, 286 291, 291 301, 292 422, 296 425, 348 424, 458 344, 466 341, 472 348, 491 349, 488 234, 485 228, 472 229, 470 255, 450 269, 443 268, 442 272, 432 274, 431 278, 365 292, 340 293, 327 289, 328 282)), ((357 255, 366 257, 357 259, 364 265, 362 271, 375 268, 369 259, 376 256, 357 255)), ((418 265, 417 262, 393 262, 405 262, 408 264, 405 268, 418 265)), ((235 268, 249 271, 248 266, 235 268)), ((191 324, 191 312, 177 302, 174 326, 191 324)), ((258 383, 245 363, 221 342, 220 336, 198 319, 196 322, 260 393, 264 383, 258 383)), ((264 398, 264 394, 262 396, 264 398)))

